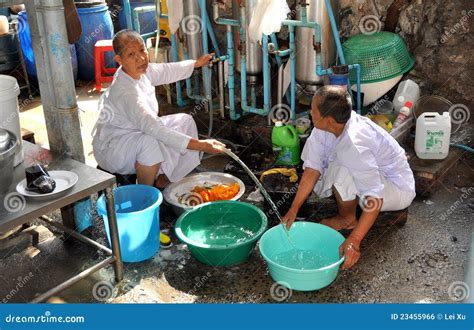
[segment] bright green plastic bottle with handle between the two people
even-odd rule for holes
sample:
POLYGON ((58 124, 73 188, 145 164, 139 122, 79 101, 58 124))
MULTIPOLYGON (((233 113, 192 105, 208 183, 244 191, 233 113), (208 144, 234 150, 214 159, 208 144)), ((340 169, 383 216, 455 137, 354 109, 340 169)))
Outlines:
POLYGON ((300 138, 293 125, 275 123, 272 130, 273 151, 278 153, 276 165, 298 165, 300 163, 300 138))

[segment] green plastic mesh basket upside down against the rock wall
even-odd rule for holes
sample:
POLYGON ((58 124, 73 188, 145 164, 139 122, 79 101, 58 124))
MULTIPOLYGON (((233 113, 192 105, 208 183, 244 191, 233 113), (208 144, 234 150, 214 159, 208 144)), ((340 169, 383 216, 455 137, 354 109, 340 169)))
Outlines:
MULTIPOLYGON (((401 76, 415 64, 403 39, 398 34, 386 31, 350 37, 344 43, 343 50, 348 64, 360 64, 361 83, 401 76)), ((354 70, 350 81, 356 81, 354 70)))

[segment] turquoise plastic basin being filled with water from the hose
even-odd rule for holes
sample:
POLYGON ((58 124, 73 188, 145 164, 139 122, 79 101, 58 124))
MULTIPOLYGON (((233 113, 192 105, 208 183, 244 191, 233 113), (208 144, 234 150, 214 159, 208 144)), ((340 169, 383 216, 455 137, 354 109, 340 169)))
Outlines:
POLYGON ((318 223, 295 222, 290 240, 283 225, 268 230, 260 239, 260 253, 275 282, 292 290, 313 291, 336 279, 344 261, 339 258, 344 236, 318 223))

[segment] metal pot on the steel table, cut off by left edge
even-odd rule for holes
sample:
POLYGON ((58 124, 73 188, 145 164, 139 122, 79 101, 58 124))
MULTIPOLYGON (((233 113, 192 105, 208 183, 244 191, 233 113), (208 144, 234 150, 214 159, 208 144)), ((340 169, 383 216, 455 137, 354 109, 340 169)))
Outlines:
POLYGON ((18 138, 11 131, 0 128, 0 193, 8 191, 13 180, 15 152, 18 138))

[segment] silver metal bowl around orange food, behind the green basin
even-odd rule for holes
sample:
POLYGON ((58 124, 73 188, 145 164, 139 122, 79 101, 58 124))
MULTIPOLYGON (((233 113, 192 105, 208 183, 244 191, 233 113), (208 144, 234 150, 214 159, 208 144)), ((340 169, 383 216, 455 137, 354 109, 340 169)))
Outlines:
POLYGON ((196 186, 215 185, 215 184, 234 184, 238 183, 240 190, 231 200, 239 200, 245 193, 245 185, 239 178, 233 175, 219 172, 202 172, 187 176, 180 181, 173 182, 163 191, 163 198, 171 205, 176 215, 181 215, 185 211, 193 209, 193 206, 180 203, 178 198, 186 195, 188 198, 198 198, 197 194, 190 193, 196 186))

